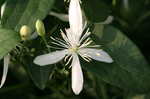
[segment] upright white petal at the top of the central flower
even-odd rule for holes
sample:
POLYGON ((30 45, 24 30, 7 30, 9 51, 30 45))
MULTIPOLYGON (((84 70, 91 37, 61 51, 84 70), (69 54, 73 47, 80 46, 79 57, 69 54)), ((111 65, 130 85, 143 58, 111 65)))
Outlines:
POLYGON ((69 5, 69 23, 73 35, 81 36, 83 28, 80 0, 71 0, 69 5))

